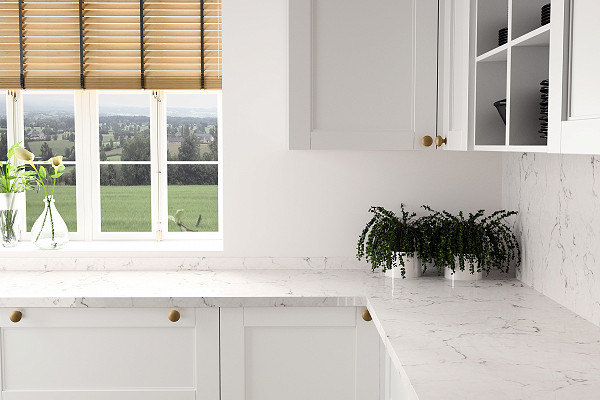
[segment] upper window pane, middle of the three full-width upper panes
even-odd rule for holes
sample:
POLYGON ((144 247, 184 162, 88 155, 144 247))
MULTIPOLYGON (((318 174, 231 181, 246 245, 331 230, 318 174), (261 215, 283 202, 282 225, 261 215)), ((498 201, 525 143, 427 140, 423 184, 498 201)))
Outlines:
POLYGON ((150 95, 98 95, 100 161, 150 161, 150 95))

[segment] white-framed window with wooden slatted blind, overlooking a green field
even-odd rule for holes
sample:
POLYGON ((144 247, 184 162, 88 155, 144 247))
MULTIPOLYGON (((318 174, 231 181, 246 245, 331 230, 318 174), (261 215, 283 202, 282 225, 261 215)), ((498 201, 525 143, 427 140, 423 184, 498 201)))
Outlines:
POLYGON ((63 156, 71 239, 222 240, 221 0, 5 0, 0 20, 0 153, 63 156))

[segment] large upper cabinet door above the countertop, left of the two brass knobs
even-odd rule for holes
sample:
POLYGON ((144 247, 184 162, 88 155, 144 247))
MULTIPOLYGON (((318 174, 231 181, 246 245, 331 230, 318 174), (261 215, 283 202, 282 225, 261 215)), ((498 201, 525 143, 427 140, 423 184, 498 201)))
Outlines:
POLYGON ((437 0, 290 0, 290 149, 422 148, 437 41, 437 0))

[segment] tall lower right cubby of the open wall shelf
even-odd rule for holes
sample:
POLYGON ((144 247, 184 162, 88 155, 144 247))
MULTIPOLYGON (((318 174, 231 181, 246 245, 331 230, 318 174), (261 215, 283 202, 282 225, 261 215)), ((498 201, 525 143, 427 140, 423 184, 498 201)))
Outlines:
POLYGON ((540 82, 548 79, 549 46, 511 49, 509 145, 543 146, 540 137, 540 82))

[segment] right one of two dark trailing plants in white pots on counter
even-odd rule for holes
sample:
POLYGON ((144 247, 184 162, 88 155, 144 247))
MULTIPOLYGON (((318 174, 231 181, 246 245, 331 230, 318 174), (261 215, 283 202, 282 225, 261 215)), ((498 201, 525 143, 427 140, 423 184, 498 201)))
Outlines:
POLYGON ((417 254, 424 268, 433 264, 441 275, 460 280, 481 279, 483 272, 492 269, 507 273, 514 263, 521 262, 517 237, 506 218, 516 211, 499 210, 485 216, 484 210, 465 216, 463 212, 453 215, 447 211, 429 212, 419 218, 415 226, 420 238, 417 254))

